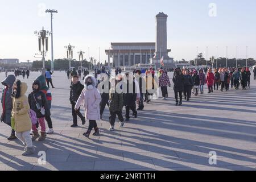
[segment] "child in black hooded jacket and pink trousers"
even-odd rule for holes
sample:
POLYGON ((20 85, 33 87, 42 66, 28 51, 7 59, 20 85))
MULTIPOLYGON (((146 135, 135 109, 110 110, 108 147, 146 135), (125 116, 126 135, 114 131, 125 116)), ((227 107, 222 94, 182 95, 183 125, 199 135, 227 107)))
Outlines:
POLYGON ((36 118, 38 118, 39 125, 41 127, 40 134, 38 134, 38 128, 36 125, 32 125, 32 141, 36 140, 43 141, 46 139, 46 123, 44 123, 44 118, 49 116, 49 107, 46 100, 46 94, 41 90, 41 82, 35 80, 32 84, 32 92, 28 95, 28 103, 30 108, 35 111, 36 118))

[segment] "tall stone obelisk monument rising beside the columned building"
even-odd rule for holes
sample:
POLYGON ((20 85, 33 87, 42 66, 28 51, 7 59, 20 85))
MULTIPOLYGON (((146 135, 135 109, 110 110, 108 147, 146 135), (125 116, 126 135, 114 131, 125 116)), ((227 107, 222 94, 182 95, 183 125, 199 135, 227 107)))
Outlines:
POLYGON ((151 64, 160 67, 160 60, 163 57, 164 67, 175 68, 174 59, 168 56, 171 49, 167 49, 167 15, 159 13, 155 16, 156 19, 156 52, 155 56, 151 59, 151 64))

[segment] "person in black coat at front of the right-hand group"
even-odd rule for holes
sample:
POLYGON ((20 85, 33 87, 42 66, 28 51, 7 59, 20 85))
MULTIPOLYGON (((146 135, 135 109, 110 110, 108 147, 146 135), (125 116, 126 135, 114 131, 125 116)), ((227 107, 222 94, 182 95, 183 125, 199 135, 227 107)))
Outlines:
POLYGON ((174 77, 172 78, 172 82, 174 82, 174 95, 176 100, 176 106, 182 105, 182 92, 184 90, 184 75, 181 72, 180 68, 176 68, 174 70, 174 77), (180 102, 178 102, 178 93, 180 97, 180 102))

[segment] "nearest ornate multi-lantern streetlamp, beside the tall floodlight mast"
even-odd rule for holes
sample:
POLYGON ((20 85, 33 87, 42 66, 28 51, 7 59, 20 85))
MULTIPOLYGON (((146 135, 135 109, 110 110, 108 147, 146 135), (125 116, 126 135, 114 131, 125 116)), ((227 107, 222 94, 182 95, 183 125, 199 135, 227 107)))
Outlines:
POLYGON ((46 56, 46 52, 48 52, 48 36, 51 35, 51 32, 44 30, 44 27, 40 31, 35 31, 34 34, 38 36, 38 46, 39 46, 39 52, 40 55, 35 54, 36 56, 43 56, 42 57, 42 62, 43 62, 43 69, 42 69, 42 75, 44 75, 46 71, 45 67, 45 61, 46 59, 44 58, 46 56), (46 46, 46 51, 44 51, 44 46, 46 46))

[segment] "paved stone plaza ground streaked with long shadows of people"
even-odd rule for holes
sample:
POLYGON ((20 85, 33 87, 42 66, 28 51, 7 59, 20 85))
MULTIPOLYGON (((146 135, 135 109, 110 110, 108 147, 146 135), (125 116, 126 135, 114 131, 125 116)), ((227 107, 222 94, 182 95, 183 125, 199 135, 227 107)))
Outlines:
MULTIPOLYGON (((31 73, 26 81, 31 92, 31 73)), ((170 78, 172 78, 170 74, 170 78)), ((0 73, 3 80, 5 73, 0 73)), ((100 137, 85 138, 85 126, 72 129, 69 85, 65 72, 53 74, 52 121, 55 134, 34 142, 46 151, 46 165, 38 155, 22 156, 23 146, 9 142, 10 128, 0 123, 0 170, 255 170, 256 82, 251 89, 192 96, 175 106, 173 88, 167 101, 155 100, 131 118, 125 127, 110 132, 109 111, 97 122, 100 137), (210 166, 209 152, 217 152, 217 165, 210 166)), ((172 82, 171 82, 172 84, 172 82)), ((173 84, 172 84, 173 86, 173 84)), ((1 92, 3 86, 0 86, 1 92)), ((28 94, 28 92, 27 92, 28 94)), ((1 93, 2 96, 2 93, 1 93)), ((0 109, 2 112, 2 107, 0 109)))

